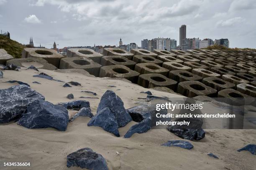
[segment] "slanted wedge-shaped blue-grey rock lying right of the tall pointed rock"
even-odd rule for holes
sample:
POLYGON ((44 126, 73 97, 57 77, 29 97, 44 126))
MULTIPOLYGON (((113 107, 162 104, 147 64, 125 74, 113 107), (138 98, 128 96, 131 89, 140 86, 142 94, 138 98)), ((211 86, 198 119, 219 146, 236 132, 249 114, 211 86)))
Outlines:
POLYGON ((151 119, 147 118, 141 122, 133 125, 128 132, 124 135, 124 138, 130 138, 134 133, 145 133, 151 129, 151 119))

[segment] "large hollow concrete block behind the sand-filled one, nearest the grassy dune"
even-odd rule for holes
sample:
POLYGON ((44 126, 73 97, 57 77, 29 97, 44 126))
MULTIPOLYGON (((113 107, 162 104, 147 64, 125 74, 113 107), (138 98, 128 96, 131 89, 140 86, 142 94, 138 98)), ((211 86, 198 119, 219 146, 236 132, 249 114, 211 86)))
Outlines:
POLYGON ((59 68, 60 60, 64 56, 58 54, 57 51, 47 48, 24 48, 22 51, 22 58, 37 57, 43 58, 50 64, 59 68))

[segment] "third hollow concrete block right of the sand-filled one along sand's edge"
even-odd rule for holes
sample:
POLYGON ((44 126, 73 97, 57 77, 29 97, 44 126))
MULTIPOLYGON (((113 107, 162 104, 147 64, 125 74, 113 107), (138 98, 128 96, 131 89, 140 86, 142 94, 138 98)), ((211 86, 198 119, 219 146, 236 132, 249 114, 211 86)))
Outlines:
POLYGON ((161 74, 143 74, 138 77, 138 85, 146 88, 168 87, 175 89, 177 82, 161 74))

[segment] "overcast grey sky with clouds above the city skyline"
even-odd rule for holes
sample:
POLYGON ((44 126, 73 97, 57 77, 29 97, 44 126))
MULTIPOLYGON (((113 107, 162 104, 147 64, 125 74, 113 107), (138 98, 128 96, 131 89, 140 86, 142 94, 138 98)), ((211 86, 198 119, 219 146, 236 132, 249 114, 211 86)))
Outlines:
POLYGON ((0 30, 34 46, 118 45, 156 37, 228 38, 256 48, 255 0, 0 0, 0 30))

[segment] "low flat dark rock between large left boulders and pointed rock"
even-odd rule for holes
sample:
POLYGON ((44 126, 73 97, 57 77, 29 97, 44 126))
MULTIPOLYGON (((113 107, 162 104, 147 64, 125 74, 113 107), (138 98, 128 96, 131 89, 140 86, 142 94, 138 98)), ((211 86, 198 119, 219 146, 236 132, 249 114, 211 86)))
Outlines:
POLYGON ((90 102, 86 100, 74 100, 70 102, 61 102, 61 103, 58 103, 58 105, 62 105, 69 110, 80 110, 83 107, 86 107, 86 108, 90 107, 90 102))

